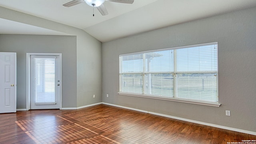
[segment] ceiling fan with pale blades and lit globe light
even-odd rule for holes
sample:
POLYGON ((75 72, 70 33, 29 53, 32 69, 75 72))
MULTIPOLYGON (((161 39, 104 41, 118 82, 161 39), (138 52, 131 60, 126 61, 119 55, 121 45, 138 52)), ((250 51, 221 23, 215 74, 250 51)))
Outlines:
POLYGON ((73 0, 71 2, 63 4, 63 6, 70 7, 70 6, 74 6, 74 5, 86 2, 86 4, 88 4, 89 6, 96 7, 98 11, 102 14, 102 16, 106 16, 108 14, 108 10, 103 4, 105 1, 118 2, 118 3, 124 3, 124 4, 132 4, 134 2, 134 0, 73 0))

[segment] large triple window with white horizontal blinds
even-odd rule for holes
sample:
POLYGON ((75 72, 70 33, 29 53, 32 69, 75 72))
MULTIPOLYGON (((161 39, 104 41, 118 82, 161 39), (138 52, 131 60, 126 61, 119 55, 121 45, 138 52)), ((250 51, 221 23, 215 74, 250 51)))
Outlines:
POLYGON ((119 56, 120 93, 218 103, 217 42, 119 56))

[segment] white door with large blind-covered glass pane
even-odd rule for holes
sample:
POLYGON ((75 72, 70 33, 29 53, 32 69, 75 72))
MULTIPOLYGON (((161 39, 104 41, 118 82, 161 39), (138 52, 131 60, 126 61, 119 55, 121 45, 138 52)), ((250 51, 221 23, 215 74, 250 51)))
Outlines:
POLYGON ((60 108, 60 58, 54 55, 30 56, 30 108, 60 108))

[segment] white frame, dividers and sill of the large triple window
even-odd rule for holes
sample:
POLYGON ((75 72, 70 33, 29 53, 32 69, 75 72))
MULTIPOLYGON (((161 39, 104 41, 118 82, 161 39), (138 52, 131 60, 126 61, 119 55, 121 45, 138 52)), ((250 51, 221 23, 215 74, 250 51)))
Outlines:
MULTIPOLYGON (((164 50, 174 50, 174 52, 176 52, 177 49, 181 49, 181 48, 192 48, 192 47, 198 47, 198 46, 207 46, 207 45, 217 45, 218 48, 218 42, 210 42, 210 43, 204 43, 204 44, 195 44, 195 45, 189 45, 189 46, 180 46, 180 47, 174 47, 174 48, 164 48, 164 49, 158 49, 158 50, 150 50, 150 51, 144 51, 144 52, 135 52, 135 53, 130 53, 130 54, 120 54, 119 58, 122 58, 122 56, 127 56, 127 55, 134 55, 134 54, 143 54, 143 62, 145 62, 145 54, 149 53, 149 52, 159 52, 159 51, 164 51, 164 50)), ((218 49, 217 49, 218 52, 218 49)), ((176 58, 174 58, 175 61, 176 58)), ((218 59, 218 53, 217 53, 217 59, 218 59)), ((119 92, 118 94, 120 95, 125 95, 125 96, 136 96, 136 97, 143 97, 143 98, 152 98, 152 99, 159 99, 159 100, 170 100, 170 101, 175 101, 175 102, 184 102, 184 103, 190 103, 190 104, 200 104, 200 105, 206 105, 206 106, 216 106, 219 107, 220 103, 219 101, 217 102, 208 102, 208 101, 202 101, 202 100, 192 100, 192 99, 184 99, 184 98, 179 98, 175 96, 176 92, 173 92, 173 97, 164 97, 164 96, 154 96, 154 95, 150 95, 150 94, 135 94, 135 93, 128 93, 128 92, 122 92, 122 74, 142 74, 142 78, 144 79, 144 75, 145 74, 164 74, 166 72, 146 72, 145 70, 145 63, 143 63, 143 68, 144 70, 142 72, 121 72, 121 64, 122 60, 120 59, 119 61, 119 92)), ((174 62, 175 63, 175 62, 174 62)), ((217 65, 218 65, 218 60, 217 60, 217 65)), ((174 71, 173 72, 167 72, 168 74, 172 74, 172 75, 177 75, 177 74, 185 74, 186 72, 177 72, 177 70, 175 70, 174 66, 174 71)), ((188 72, 190 73, 190 72, 188 72)), ((194 73, 200 73, 200 74, 204 74, 204 73, 213 73, 213 72, 192 72, 194 73)), ((217 71, 214 72, 217 73, 217 100, 218 100, 218 68, 217 71)), ((173 76, 174 78, 175 76, 173 76)), ((174 78, 176 79, 176 77, 174 78)), ((142 91, 144 92, 144 87, 145 87, 145 80, 142 80, 143 84, 142 84, 142 91)), ((173 82, 173 84, 176 84, 176 82, 173 82)), ((175 86, 173 86, 173 90, 175 89, 175 86)), ((175 91, 175 90, 174 90, 175 91)))

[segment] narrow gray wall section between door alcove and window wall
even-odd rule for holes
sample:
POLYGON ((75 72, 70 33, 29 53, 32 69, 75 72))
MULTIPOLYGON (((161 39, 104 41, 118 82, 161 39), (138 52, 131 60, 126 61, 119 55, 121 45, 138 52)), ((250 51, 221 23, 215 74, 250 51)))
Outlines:
POLYGON ((101 42, 92 36, 78 36, 77 40, 82 43, 77 48, 77 107, 80 107, 102 102, 102 60, 101 42))

